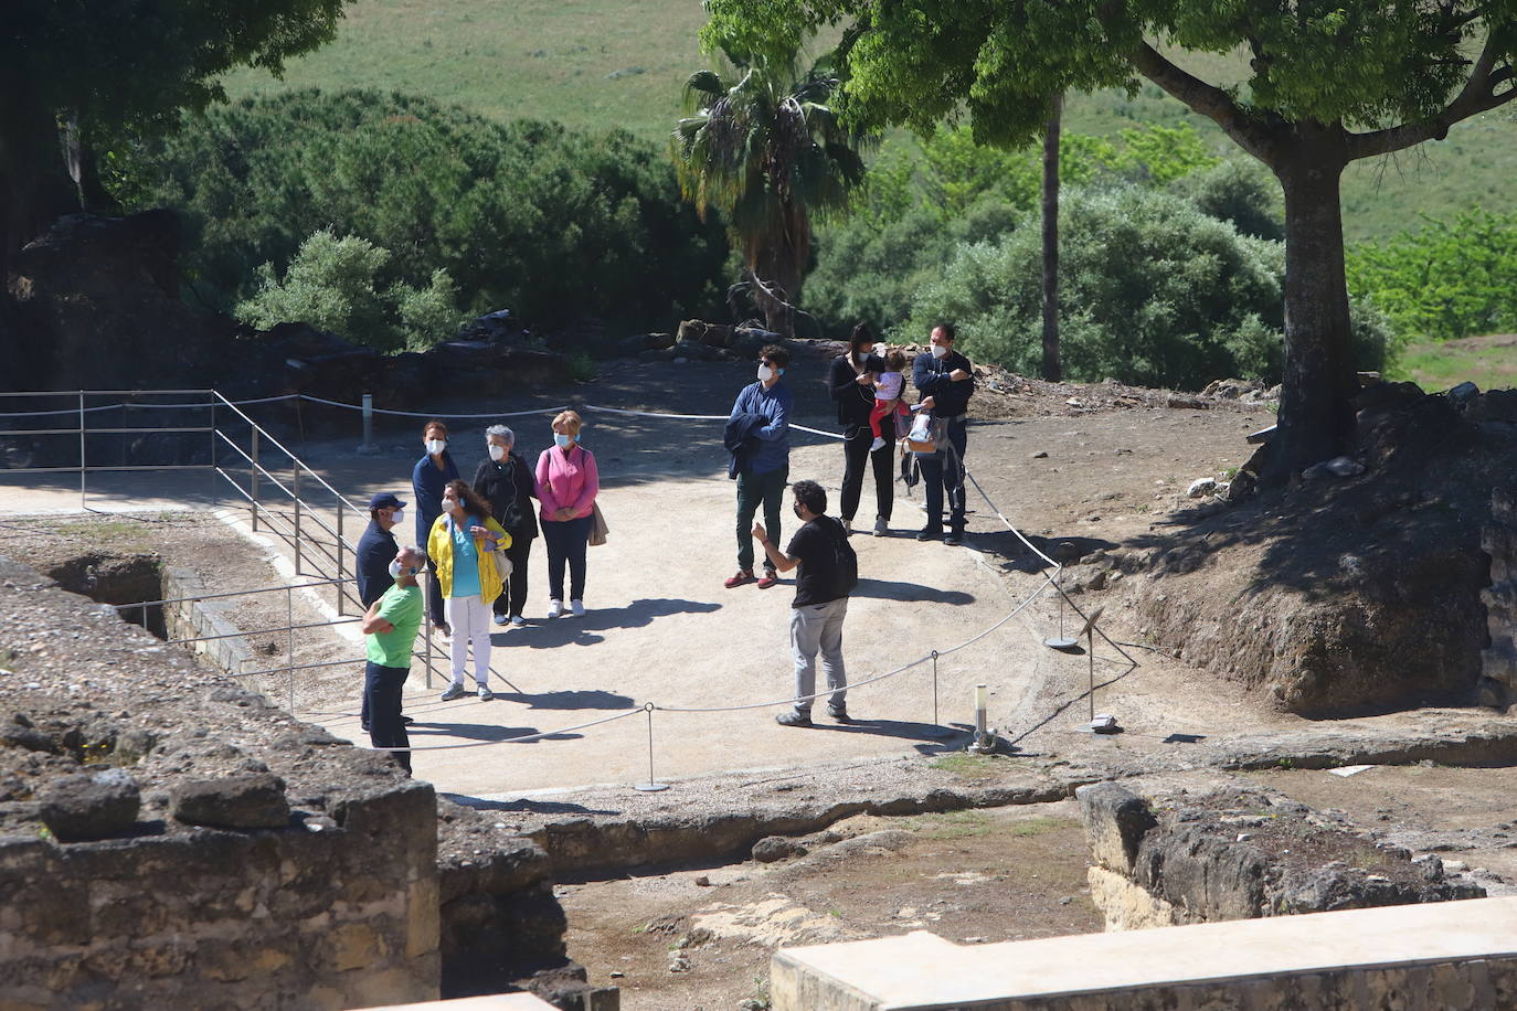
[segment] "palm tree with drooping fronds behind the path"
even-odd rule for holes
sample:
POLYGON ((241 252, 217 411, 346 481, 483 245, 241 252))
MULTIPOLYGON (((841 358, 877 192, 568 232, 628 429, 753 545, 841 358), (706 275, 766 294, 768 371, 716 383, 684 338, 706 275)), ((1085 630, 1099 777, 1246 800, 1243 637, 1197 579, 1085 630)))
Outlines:
POLYGON ((736 83, 702 70, 684 85, 692 115, 674 132, 680 191, 702 220, 710 206, 727 217, 769 329, 789 336, 812 218, 848 206, 866 138, 843 129, 827 105, 837 88, 830 56, 804 73, 793 53, 727 52, 727 59, 740 74, 736 83))

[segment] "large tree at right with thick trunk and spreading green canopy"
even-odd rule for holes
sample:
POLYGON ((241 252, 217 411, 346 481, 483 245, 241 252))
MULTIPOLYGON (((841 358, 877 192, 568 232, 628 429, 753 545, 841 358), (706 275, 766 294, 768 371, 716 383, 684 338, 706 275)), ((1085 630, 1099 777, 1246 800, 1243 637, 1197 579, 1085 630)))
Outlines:
POLYGON ((1148 79, 1215 121, 1285 192, 1285 388, 1270 474, 1341 452, 1356 391, 1343 168, 1517 99, 1517 0, 710 0, 710 44, 787 45, 842 24, 839 106, 930 133, 1033 139, 1051 97, 1148 79), (1247 58, 1203 80, 1185 53, 1247 58))

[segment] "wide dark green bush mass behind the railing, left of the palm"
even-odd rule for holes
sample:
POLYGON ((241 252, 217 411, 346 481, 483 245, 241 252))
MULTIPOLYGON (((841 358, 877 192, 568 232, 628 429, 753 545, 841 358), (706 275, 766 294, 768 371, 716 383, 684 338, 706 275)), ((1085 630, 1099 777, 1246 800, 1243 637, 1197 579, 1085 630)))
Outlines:
POLYGON ((391 303, 411 335, 449 315, 448 283, 469 312, 667 326, 719 305, 727 258, 721 223, 680 200, 652 144, 376 91, 191 117, 130 155, 120 196, 182 214, 187 283, 215 308, 253 297, 261 264, 285 271, 323 229, 387 250, 375 290, 410 290, 391 303))

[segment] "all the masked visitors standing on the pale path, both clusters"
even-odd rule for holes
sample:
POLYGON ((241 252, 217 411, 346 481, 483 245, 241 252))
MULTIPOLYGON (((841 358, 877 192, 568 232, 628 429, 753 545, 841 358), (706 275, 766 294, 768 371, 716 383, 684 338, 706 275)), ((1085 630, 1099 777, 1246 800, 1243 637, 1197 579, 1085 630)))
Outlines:
MULTIPOLYGON (((906 356, 898 350, 881 353, 862 323, 850 335, 848 350, 831 364, 827 383, 843 427, 840 520, 827 515, 827 491, 818 482, 792 485, 789 480, 793 396, 784 383, 790 356, 783 347, 771 344, 758 353, 755 382, 733 403, 724 444, 731 455, 728 474, 737 480, 737 571, 725 585, 755 584, 765 590, 778 582, 780 573, 798 570, 790 603, 795 705, 777 717, 783 726, 812 725, 818 655, 827 678, 827 712, 834 720, 848 720, 842 629, 848 594, 857 582, 857 556, 848 537, 865 471, 871 468, 877 506, 872 534, 889 534, 895 444, 907 429, 912 430, 912 452, 903 453, 903 459, 919 471, 925 485, 927 524, 916 540, 942 538, 947 544, 963 540, 963 458, 974 371, 969 359, 954 350, 954 336, 953 324, 933 327, 930 350, 913 359, 912 383, 921 397, 916 405, 904 403, 906 356), (786 488, 801 526, 781 550, 780 511, 786 488), (763 521, 755 523, 760 509, 763 521), (762 576, 754 574, 755 541, 763 550, 762 576)), ((449 453, 448 426, 428 421, 422 430, 425 453, 411 474, 419 547, 402 549, 394 540, 405 502, 391 493, 370 500, 370 524, 358 543, 356 562, 358 594, 367 608, 363 632, 369 638, 361 721, 375 747, 410 746, 405 732, 410 718, 400 712, 400 690, 423 620, 417 579, 423 568, 432 571, 426 602, 432 624, 444 637, 451 635, 452 682, 443 693, 444 702, 467 694, 464 678, 470 649, 478 697, 493 697, 488 684, 492 614, 501 626, 525 624, 528 561, 539 532, 548 546, 548 617, 584 614, 586 547, 596 518, 599 473, 595 455, 579 446, 581 426, 576 412, 560 412, 552 420, 554 446, 542 452, 536 468, 514 452, 511 429, 488 427, 488 459, 479 462, 470 485, 460 479, 449 453)), ((410 770, 408 752, 396 755, 410 770)))

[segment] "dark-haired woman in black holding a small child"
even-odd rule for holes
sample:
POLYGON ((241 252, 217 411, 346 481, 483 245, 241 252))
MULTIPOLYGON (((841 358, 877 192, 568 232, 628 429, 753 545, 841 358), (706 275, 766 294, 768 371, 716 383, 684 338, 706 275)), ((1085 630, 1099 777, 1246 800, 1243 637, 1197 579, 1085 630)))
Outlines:
POLYGON ((869 430, 869 411, 874 408, 874 373, 884 368, 884 361, 874 355, 872 349, 874 333, 860 323, 848 338, 848 353, 834 359, 827 373, 827 391, 837 403, 837 423, 843 426, 843 496, 840 506, 843 529, 853 531, 853 518, 859 512, 868 462, 874 468, 874 535, 884 537, 890 527, 890 509, 895 505, 895 479, 890 473, 895 459, 895 424, 880 426, 880 438, 884 440, 884 446, 871 450, 874 432, 869 430))

